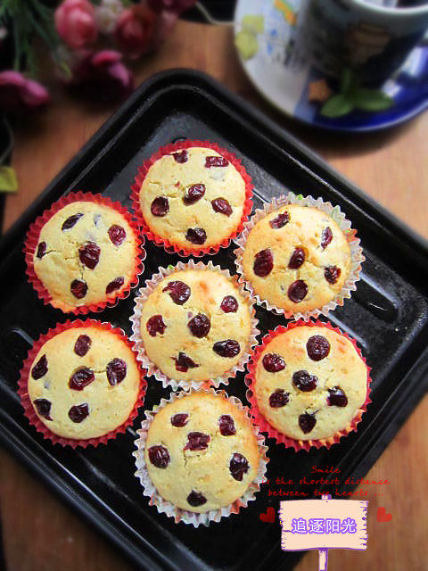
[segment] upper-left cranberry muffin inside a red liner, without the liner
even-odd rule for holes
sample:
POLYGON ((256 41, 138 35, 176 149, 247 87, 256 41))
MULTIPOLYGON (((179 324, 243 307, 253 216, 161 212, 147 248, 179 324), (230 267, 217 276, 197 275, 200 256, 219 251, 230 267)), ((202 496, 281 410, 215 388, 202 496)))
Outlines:
POLYGON ((108 199, 80 195, 84 200, 67 197, 72 202, 37 219, 34 248, 27 249, 36 287, 64 312, 103 309, 127 294, 141 271, 140 241, 125 210, 108 199))

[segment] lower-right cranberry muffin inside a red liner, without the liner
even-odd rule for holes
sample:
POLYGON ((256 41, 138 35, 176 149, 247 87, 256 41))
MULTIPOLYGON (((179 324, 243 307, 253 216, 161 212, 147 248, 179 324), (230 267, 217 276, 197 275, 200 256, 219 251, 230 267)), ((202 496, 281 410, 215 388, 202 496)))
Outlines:
POLYGON ((347 336, 321 322, 278 327, 259 348, 250 377, 269 435, 328 440, 348 434, 365 410, 366 363, 347 336))

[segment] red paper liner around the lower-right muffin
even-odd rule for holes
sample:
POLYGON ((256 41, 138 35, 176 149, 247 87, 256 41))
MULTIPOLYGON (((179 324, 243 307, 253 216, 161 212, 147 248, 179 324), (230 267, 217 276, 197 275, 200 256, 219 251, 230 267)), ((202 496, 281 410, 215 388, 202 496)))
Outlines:
POLYGON ((248 386, 248 390, 246 393, 247 399, 251 405, 251 415, 255 419, 256 424, 259 426, 261 432, 268 433, 268 436, 274 438, 276 443, 284 444, 286 448, 293 448, 294 451, 309 451, 312 446, 315 448, 331 448, 333 444, 339 443, 343 436, 347 436, 351 432, 357 430, 358 424, 361 421, 363 414, 367 410, 367 406, 370 404, 370 384, 371 384, 371 377, 370 377, 370 370, 371 368, 367 366, 366 359, 363 357, 361 350, 359 349, 357 342, 355 339, 350 337, 350 335, 343 333, 339 327, 333 327, 331 323, 327 322, 324 323, 323 321, 305 321, 300 319, 299 321, 291 321, 287 326, 278 326, 273 331, 269 331, 267 335, 263 337, 261 343, 256 347, 254 352, 251 354, 250 362, 248 364, 248 375, 245 378, 245 385, 248 386), (342 430, 337 431, 330 436, 329 438, 320 438, 320 439, 311 439, 311 440, 296 440, 279 432, 274 426, 268 423, 268 420, 261 414, 259 407, 257 405, 257 399, 255 392, 253 391, 253 385, 256 384, 256 368, 259 361, 259 357, 261 353, 265 350, 268 343, 272 341, 277 335, 282 335, 286 331, 290 331, 295 327, 325 327, 334 331, 335 333, 346 337, 354 346, 356 352, 358 353, 359 358, 364 362, 366 365, 367 370, 367 390, 366 390, 366 400, 357 410, 354 418, 350 420, 350 424, 342 430))

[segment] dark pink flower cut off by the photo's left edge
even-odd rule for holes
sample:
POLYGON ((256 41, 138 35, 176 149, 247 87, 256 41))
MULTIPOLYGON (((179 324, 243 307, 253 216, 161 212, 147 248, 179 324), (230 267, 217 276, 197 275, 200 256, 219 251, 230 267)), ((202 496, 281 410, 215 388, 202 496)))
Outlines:
POLYGON ((0 73, 0 108, 6 111, 37 109, 50 101, 50 95, 40 83, 26 79, 18 71, 0 73))

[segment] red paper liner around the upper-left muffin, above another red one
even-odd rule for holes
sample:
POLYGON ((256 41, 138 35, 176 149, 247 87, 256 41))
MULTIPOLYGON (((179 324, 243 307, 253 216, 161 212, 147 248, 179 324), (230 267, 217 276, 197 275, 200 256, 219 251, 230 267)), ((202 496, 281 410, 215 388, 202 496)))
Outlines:
POLYGON ((45 303, 45 305, 51 304, 54 308, 62 310, 64 313, 73 313, 75 315, 86 315, 89 312, 103 311, 106 307, 114 307, 118 304, 119 300, 123 300, 128 297, 131 289, 138 285, 138 276, 144 271, 144 237, 141 238, 139 236, 136 222, 132 219, 129 211, 120 203, 113 203, 110 198, 103 196, 102 194, 91 194, 78 191, 77 193, 70 193, 66 196, 62 196, 62 198, 53 203, 48 210, 44 211, 43 214, 41 214, 30 225, 24 243, 23 252, 25 254, 25 262, 27 265, 26 274, 29 277, 29 283, 36 290, 38 297, 45 303), (98 203, 118 211, 127 220, 128 225, 132 228, 136 239, 137 251, 140 250, 141 252, 139 252, 136 256, 132 278, 130 279, 127 287, 120 290, 119 293, 109 295, 108 298, 103 299, 101 302, 90 303, 88 305, 79 305, 75 308, 70 308, 70 306, 67 304, 54 299, 49 291, 45 288, 45 285, 43 285, 41 279, 37 277, 36 271, 34 269, 34 254, 37 249, 40 232, 42 231, 42 228, 45 226, 46 222, 50 220, 58 211, 61 211, 64 206, 76 202, 98 203))

